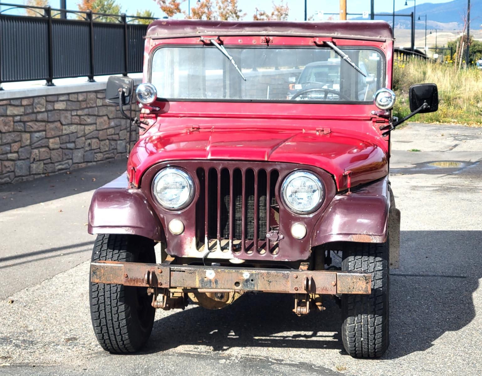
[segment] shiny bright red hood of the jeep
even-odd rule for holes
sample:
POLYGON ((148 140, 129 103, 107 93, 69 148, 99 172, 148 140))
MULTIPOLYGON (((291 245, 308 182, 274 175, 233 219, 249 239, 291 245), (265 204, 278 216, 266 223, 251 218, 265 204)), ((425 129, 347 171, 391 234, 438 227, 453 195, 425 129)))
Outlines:
MULTIPOLYGON (((365 134, 366 136, 366 134, 365 134)), ((156 133, 139 140, 130 155, 128 176, 138 186, 152 165, 169 160, 249 160, 316 166, 333 175, 337 189, 388 174, 387 155, 375 141, 337 132, 304 130, 201 129, 156 133)))

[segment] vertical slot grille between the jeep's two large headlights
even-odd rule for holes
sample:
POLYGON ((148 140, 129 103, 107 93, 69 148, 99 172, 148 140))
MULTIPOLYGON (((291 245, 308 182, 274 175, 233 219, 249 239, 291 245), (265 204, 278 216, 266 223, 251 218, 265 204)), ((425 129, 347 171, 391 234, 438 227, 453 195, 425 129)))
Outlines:
POLYGON ((278 227, 276 170, 199 168, 200 195, 197 203, 197 234, 200 244, 231 240, 234 252, 272 252, 277 247, 266 239, 278 227), (271 243, 271 244, 270 244, 271 243))

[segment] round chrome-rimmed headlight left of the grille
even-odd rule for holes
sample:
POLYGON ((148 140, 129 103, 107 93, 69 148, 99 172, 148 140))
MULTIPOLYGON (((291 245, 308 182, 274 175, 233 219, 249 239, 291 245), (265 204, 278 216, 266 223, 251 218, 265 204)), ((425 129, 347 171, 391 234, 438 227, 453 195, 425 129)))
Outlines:
POLYGON ((182 169, 166 167, 155 176, 152 192, 162 207, 180 210, 192 202, 194 183, 182 169))

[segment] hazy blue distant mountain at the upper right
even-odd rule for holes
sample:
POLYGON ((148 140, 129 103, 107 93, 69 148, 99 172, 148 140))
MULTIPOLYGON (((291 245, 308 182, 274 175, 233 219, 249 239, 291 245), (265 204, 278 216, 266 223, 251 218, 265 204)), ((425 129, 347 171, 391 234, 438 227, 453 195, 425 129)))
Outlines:
MULTIPOLYGON (((470 28, 480 29, 482 24, 482 0, 470 1, 470 28)), ((395 27, 410 28, 409 17, 397 17, 397 13, 410 14, 414 11, 414 7, 406 7, 395 11, 395 27)), ((467 0, 453 0, 444 3, 434 4, 426 2, 417 4, 415 13, 416 28, 425 26, 425 17, 418 16, 427 14, 427 27, 438 30, 458 30, 463 27, 463 15, 467 11, 467 0)), ((389 16, 378 16, 376 19, 382 19, 390 24, 392 23, 391 13, 389 16)), ((363 19, 357 17, 356 19, 363 19)))

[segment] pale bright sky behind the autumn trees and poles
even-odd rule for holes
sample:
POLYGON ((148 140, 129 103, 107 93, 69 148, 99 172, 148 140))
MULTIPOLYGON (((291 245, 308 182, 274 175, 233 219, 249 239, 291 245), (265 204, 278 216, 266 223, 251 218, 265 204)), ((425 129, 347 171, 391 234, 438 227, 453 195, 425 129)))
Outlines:
MULTIPOLYGON (((182 1, 182 0, 181 0, 182 1)), ((181 7, 187 11, 188 1, 185 0, 181 7)), ((190 0, 191 7, 196 0, 190 0)), ((275 0, 279 3, 281 0, 275 0)), ((23 0, 5 0, 7 3, 23 4, 23 0)), ((77 9, 77 3, 79 0, 67 0, 67 9, 77 9)), ((127 14, 134 14, 137 9, 144 10, 149 9, 154 12, 155 17, 162 17, 164 14, 161 12, 159 6, 154 0, 117 0, 121 5, 122 11, 127 14)), ((215 2, 215 0, 213 0, 215 2)), ((316 11, 324 13, 335 13, 339 11, 338 0, 307 0, 308 2, 308 17, 313 15, 316 11)), ((422 3, 441 3, 447 2, 447 0, 431 0, 431 1, 417 1, 422 3)), ((59 0, 50 0, 50 5, 53 8, 59 7, 59 0)), ((285 0, 290 7, 289 19, 290 20, 302 20, 304 17, 304 1, 303 0, 285 0)), ((370 11, 370 0, 347 0, 347 12, 349 13, 362 13, 364 11, 370 11)), ((239 7, 243 13, 247 13, 245 20, 251 20, 255 12, 255 8, 260 10, 271 11, 272 2, 270 0, 238 0, 239 7)), ((413 5, 413 1, 408 2, 409 5, 413 5)), ((405 0, 395 0, 395 10, 406 8, 405 0)), ((393 1, 390 0, 375 0, 375 13, 378 12, 391 12, 393 7, 393 1)))

